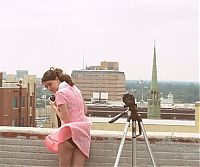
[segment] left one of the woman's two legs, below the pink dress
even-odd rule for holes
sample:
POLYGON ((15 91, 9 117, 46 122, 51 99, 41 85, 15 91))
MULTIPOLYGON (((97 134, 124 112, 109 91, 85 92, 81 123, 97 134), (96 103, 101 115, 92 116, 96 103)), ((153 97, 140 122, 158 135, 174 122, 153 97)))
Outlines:
POLYGON ((72 146, 68 141, 59 144, 59 167, 70 167, 74 149, 75 147, 72 146))

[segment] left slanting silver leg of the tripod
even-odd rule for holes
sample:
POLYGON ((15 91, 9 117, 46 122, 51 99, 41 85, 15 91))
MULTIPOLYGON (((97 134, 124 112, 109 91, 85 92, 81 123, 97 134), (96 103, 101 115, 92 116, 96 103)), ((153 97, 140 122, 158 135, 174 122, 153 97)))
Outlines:
POLYGON ((119 159, 120 159, 120 156, 121 156, 121 152, 122 152, 123 145, 124 145, 124 142, 125 142, 125 139, 126 139, 126 135, 127 135, 129 125, 130 125, 130 122, 127 122, 126 125, 125 125, 123 137, 122 137, 121 142, 120 142, 120 146, 119 146, 119 150, 118 150, 118 153, 117 153, 117 157, 116 157, 116 160, 115 160, 114 167, 118 167, 119 159))

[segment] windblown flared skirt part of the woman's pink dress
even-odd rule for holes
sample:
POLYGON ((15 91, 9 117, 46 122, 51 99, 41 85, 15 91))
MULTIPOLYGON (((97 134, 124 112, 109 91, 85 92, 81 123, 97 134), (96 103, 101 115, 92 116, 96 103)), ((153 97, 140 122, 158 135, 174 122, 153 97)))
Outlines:
POLYGON ((58 145, 72 138, 73 142, 83 154, 89 157, 91 142, 90 129, 90 122, 70 122, 64 124, 45 138, 45 145, 50 151, 58 153, 58 145))

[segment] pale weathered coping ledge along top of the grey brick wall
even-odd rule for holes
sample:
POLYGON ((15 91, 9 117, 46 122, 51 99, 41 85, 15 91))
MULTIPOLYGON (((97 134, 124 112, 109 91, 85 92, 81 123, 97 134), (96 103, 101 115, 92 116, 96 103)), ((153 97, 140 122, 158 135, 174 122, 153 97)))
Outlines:
MULTIPOLYGON (((52 133, 55 128, 35 128, 35 127, 11 127, 1 126, 1 137, 15 137, 15 138, 28 138, 28 139, 44 139, 45 136, 52 133)), ((93 140, 107 140, 117 139, 120 140, 123 136, 123 131, 103 131, 91 130, 93 140)), ((137 132, 138 133, 138 132, 137 132)), ((149 141, 155 140, 172 140, 179 142, 196 142, 200 143, 200 133, 175 133, 175 132, 146 132, 149 141)), ((127 140, 131 140, 132 133, 127 132, 127 140)), ((144 140, 143 135, 137 137, 137 140, 144 140)))

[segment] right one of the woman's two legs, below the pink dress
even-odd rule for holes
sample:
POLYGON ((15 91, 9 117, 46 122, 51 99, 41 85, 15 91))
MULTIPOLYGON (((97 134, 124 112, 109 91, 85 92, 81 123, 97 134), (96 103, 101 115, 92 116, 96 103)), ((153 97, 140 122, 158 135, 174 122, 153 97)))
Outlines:
POLYGON ((76 148, 73 152, 73 167, 84 167, 85 165, 86 156, 79 150, 79 148, 76 148))

